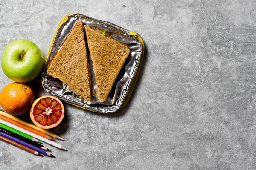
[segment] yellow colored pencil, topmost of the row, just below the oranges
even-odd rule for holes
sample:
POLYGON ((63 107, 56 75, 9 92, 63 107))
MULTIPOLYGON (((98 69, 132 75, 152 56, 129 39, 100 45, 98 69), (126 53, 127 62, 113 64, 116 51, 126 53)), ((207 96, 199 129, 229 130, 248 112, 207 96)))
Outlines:
POLYGON ((24 124, 27 127, 31 127, 32 129, 38 130, 39 132, 45 133, 45 134, 47 134, 49 136, 52 136, 53 138, 64 140, 63 138, 59 137, 58 135, 56 135, 56 134, 54 134, 52 132, 49 132, 48 130, 41 129, 40 127, 37 127, 37 126, 35 126, 33 124, 30 124, 30 123, 28 123, 26 121, 20 120, 19 118, 16 118, 15 116, 9 115, 8 113, 4 112, 3 109, 0 109, 0 115, 3 115, 6 118, 9 118, 9 119, 17 121, 17 122, 19 122, 21 124, 24 124))

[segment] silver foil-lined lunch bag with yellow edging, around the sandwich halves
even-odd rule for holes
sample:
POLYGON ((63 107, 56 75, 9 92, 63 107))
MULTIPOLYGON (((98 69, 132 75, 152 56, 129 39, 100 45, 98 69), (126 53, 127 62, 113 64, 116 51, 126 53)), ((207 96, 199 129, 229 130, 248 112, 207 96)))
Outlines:
MULTIPOLYGON (((116 26, 108 21, 96 20, 91 17, 87 17, 83 14, 73 14, 69 15, 67 20, 61 24, 58 32, 56 34, 55 40, 51 46, 51 51, 47 59, 47 63, 52 59, 54 54, 61 48, 62 43, 70 34, 71 30, 78 21, 82 21, 84 24, 89 25, 91 28, 98 32, 103 32, 107 30, 105 36, 111 37, 130 49, 130 54, 125 61, 121 71, 119 72, 116 82, 113 85, 108 99, 105 102, 99 102, 99 99, 94 96, 92 101, 89 102, 82 98, 78 93, 74 92, 70 87, 64 84, 62 81, 51 77, 47 74, 46 67, 44 68, 44 73, 42 75, 42 86, 51 95, 60 98, 63 101, 67 101, 71 104, 75 104, 80 107, 84 107, 96 112, 102 113, 112 113, 119 109, 119 107, 124 102, 124 99, 131 88, 131 81, 135 78, 135 72, 137 70, 140 58, 142 57, 141 50, 142 44, 140 40, 134 36, 130 35, 130 31, 116 26)), ((92 68, 92 63, 89 56, 90 65, 92 68)), ((70 61, 71 62, 71 61, 70 61)), ((47 65, 47 64, 46 64, 47 65)), ((97 85, 94 82, 94 72, 91 69, 92 80, 94 92, 97 92, 97 85)))

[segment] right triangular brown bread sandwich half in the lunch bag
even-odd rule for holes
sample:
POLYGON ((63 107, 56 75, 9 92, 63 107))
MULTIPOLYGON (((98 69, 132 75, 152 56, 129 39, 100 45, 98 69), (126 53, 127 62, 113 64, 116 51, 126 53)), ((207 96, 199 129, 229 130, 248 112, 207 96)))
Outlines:
POLYGON ((98 98, 107 100, 109 92, 123 66, 130 50, 116 40, 105 37, 84 25, 90 58, 95 72, 98 98))

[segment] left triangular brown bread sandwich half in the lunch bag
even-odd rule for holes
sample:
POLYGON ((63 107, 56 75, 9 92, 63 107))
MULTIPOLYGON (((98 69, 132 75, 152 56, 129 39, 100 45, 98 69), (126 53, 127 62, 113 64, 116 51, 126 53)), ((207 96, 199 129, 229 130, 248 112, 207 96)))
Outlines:
POLYGON ((85 100, 92 101, 90 65, 82 22, 76 23, 58 52, 47 64, 47 73, 58 78, 85 100))

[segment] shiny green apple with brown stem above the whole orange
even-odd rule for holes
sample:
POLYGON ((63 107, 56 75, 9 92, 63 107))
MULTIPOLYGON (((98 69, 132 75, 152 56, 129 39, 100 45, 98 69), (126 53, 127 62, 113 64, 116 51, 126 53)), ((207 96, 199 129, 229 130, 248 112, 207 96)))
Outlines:
POLYGON ((38 46, 29 40, 14 40, 3 49, 4 74, 19 83, 36 78, 44 65, 44 57, 38 46))

